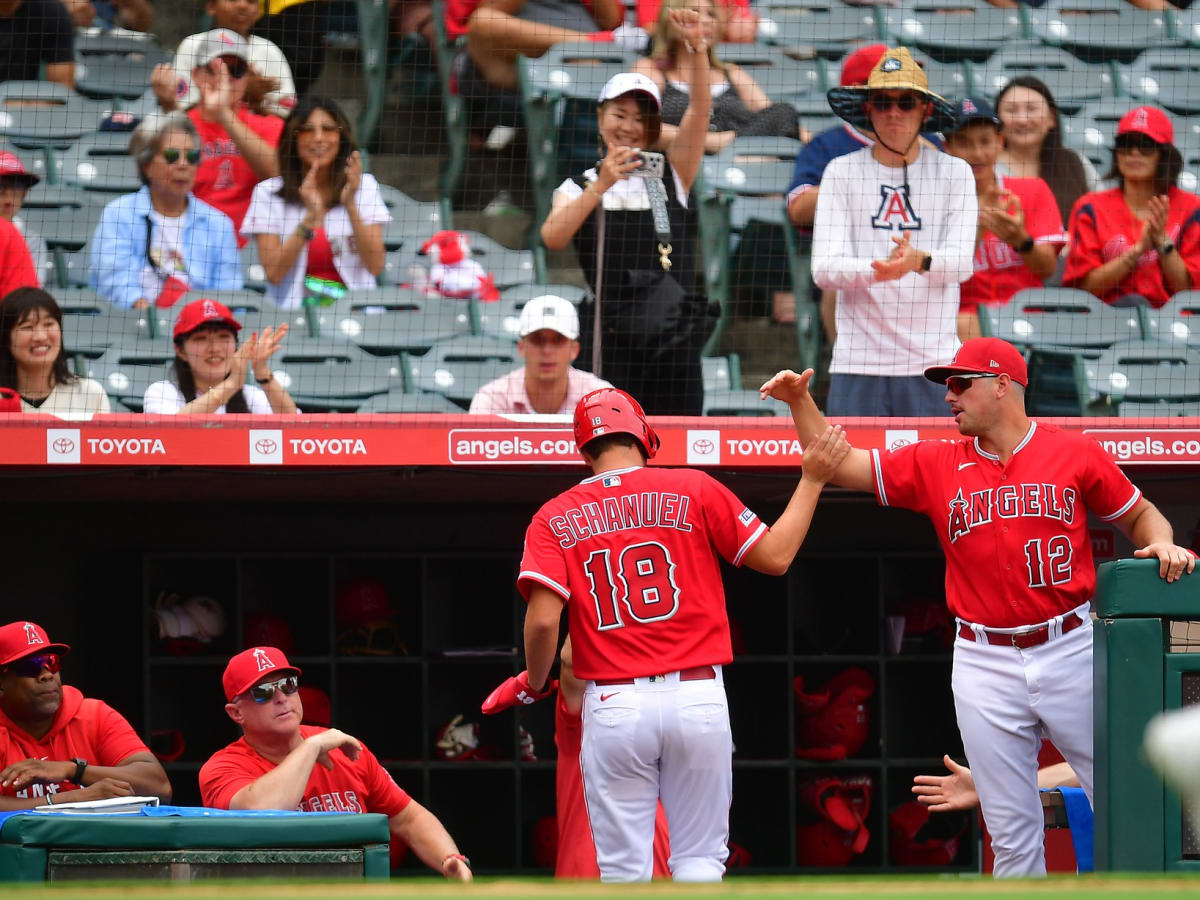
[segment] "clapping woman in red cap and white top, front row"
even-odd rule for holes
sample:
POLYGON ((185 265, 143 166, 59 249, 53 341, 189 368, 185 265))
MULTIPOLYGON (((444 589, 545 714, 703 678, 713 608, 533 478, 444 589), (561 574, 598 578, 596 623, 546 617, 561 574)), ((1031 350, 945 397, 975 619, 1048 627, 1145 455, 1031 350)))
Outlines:
POLYGON ((288 334, 287 324, 265 328, 238 346, 241 323, 229 307, 202 298, 185 306, 175 322, 173 378, 146 388, 143 412, 160 415, 184 413, 295 413, 296 404, 271 373, 271 355, 288 334), (257 385, 246 384, 252 366, 257 385))

